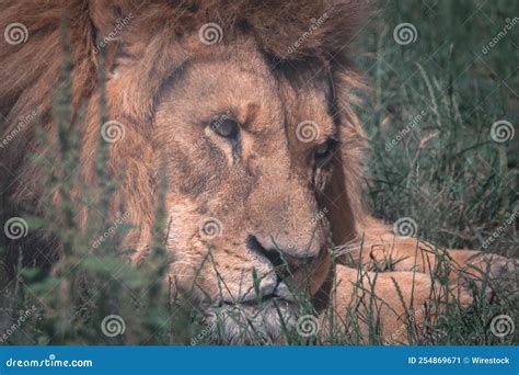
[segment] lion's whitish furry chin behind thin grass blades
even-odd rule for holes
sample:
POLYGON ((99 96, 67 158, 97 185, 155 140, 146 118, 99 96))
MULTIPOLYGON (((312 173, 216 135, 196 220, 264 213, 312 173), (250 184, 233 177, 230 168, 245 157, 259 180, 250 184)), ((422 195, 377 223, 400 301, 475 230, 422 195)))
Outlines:
POLYGON ((207 311, 206 322, 223 344, 284 344, 297 321, 297 305, 269 298, 258 304, 224 304, 207 311))

